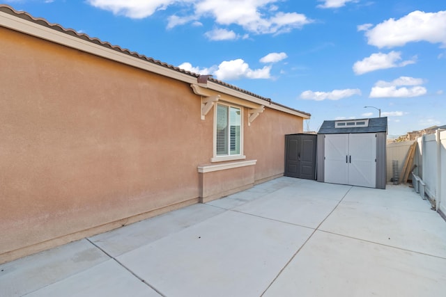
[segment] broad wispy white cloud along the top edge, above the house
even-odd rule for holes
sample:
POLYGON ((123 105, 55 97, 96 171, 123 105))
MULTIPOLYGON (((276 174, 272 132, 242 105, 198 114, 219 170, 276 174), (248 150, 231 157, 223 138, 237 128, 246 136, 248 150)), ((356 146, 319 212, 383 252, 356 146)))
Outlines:
POLYGON ((256 34, 279 34, 314 22, 300 13, 283 13, 274 5, 277 0, 87 0, 91 6, 141 19, 169 6, 181 6, 183 16, 171 15, 167 28, 211 17, 217 24, 236 24, 256 34))

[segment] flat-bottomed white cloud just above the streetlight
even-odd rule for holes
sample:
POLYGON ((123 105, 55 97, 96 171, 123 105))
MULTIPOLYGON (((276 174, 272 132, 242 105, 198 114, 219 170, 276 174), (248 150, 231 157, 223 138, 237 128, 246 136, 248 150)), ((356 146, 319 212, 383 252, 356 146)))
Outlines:
POLYGON ((394 81, 378 81, 375 86, 371 88, 369 97, 383 98, 383 97, 418 97, 427 93, 426 88, 419 86, 424 83, 423 79, 414 79, 413 77, 399 77, 394 81), (401 88, 398 88, 403 86, 401 88), (406 88, 410 86, 410 88, 406 88))

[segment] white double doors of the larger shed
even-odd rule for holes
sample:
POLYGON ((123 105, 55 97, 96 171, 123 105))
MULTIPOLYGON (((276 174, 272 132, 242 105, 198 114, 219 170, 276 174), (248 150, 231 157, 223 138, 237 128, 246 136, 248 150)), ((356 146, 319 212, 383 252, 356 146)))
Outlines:
POLYGON ((376 134, 325 135, 325 182, 376 187, 376 134))

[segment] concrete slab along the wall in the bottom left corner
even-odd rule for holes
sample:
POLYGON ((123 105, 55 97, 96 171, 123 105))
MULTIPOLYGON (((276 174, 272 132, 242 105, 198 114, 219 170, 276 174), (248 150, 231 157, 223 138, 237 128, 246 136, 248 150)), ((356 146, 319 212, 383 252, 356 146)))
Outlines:
POLYGON ((0 265, 0 296, 23 296, 109 259, 86 239, 0 265))

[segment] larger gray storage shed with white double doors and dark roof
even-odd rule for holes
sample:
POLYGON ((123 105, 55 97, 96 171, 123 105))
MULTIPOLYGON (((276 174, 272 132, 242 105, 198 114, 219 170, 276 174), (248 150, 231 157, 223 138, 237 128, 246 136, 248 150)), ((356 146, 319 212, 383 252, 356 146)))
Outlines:
POLYGON ((326 120, 317 137, 318 182, 385 188, 387 118, 326 120))

